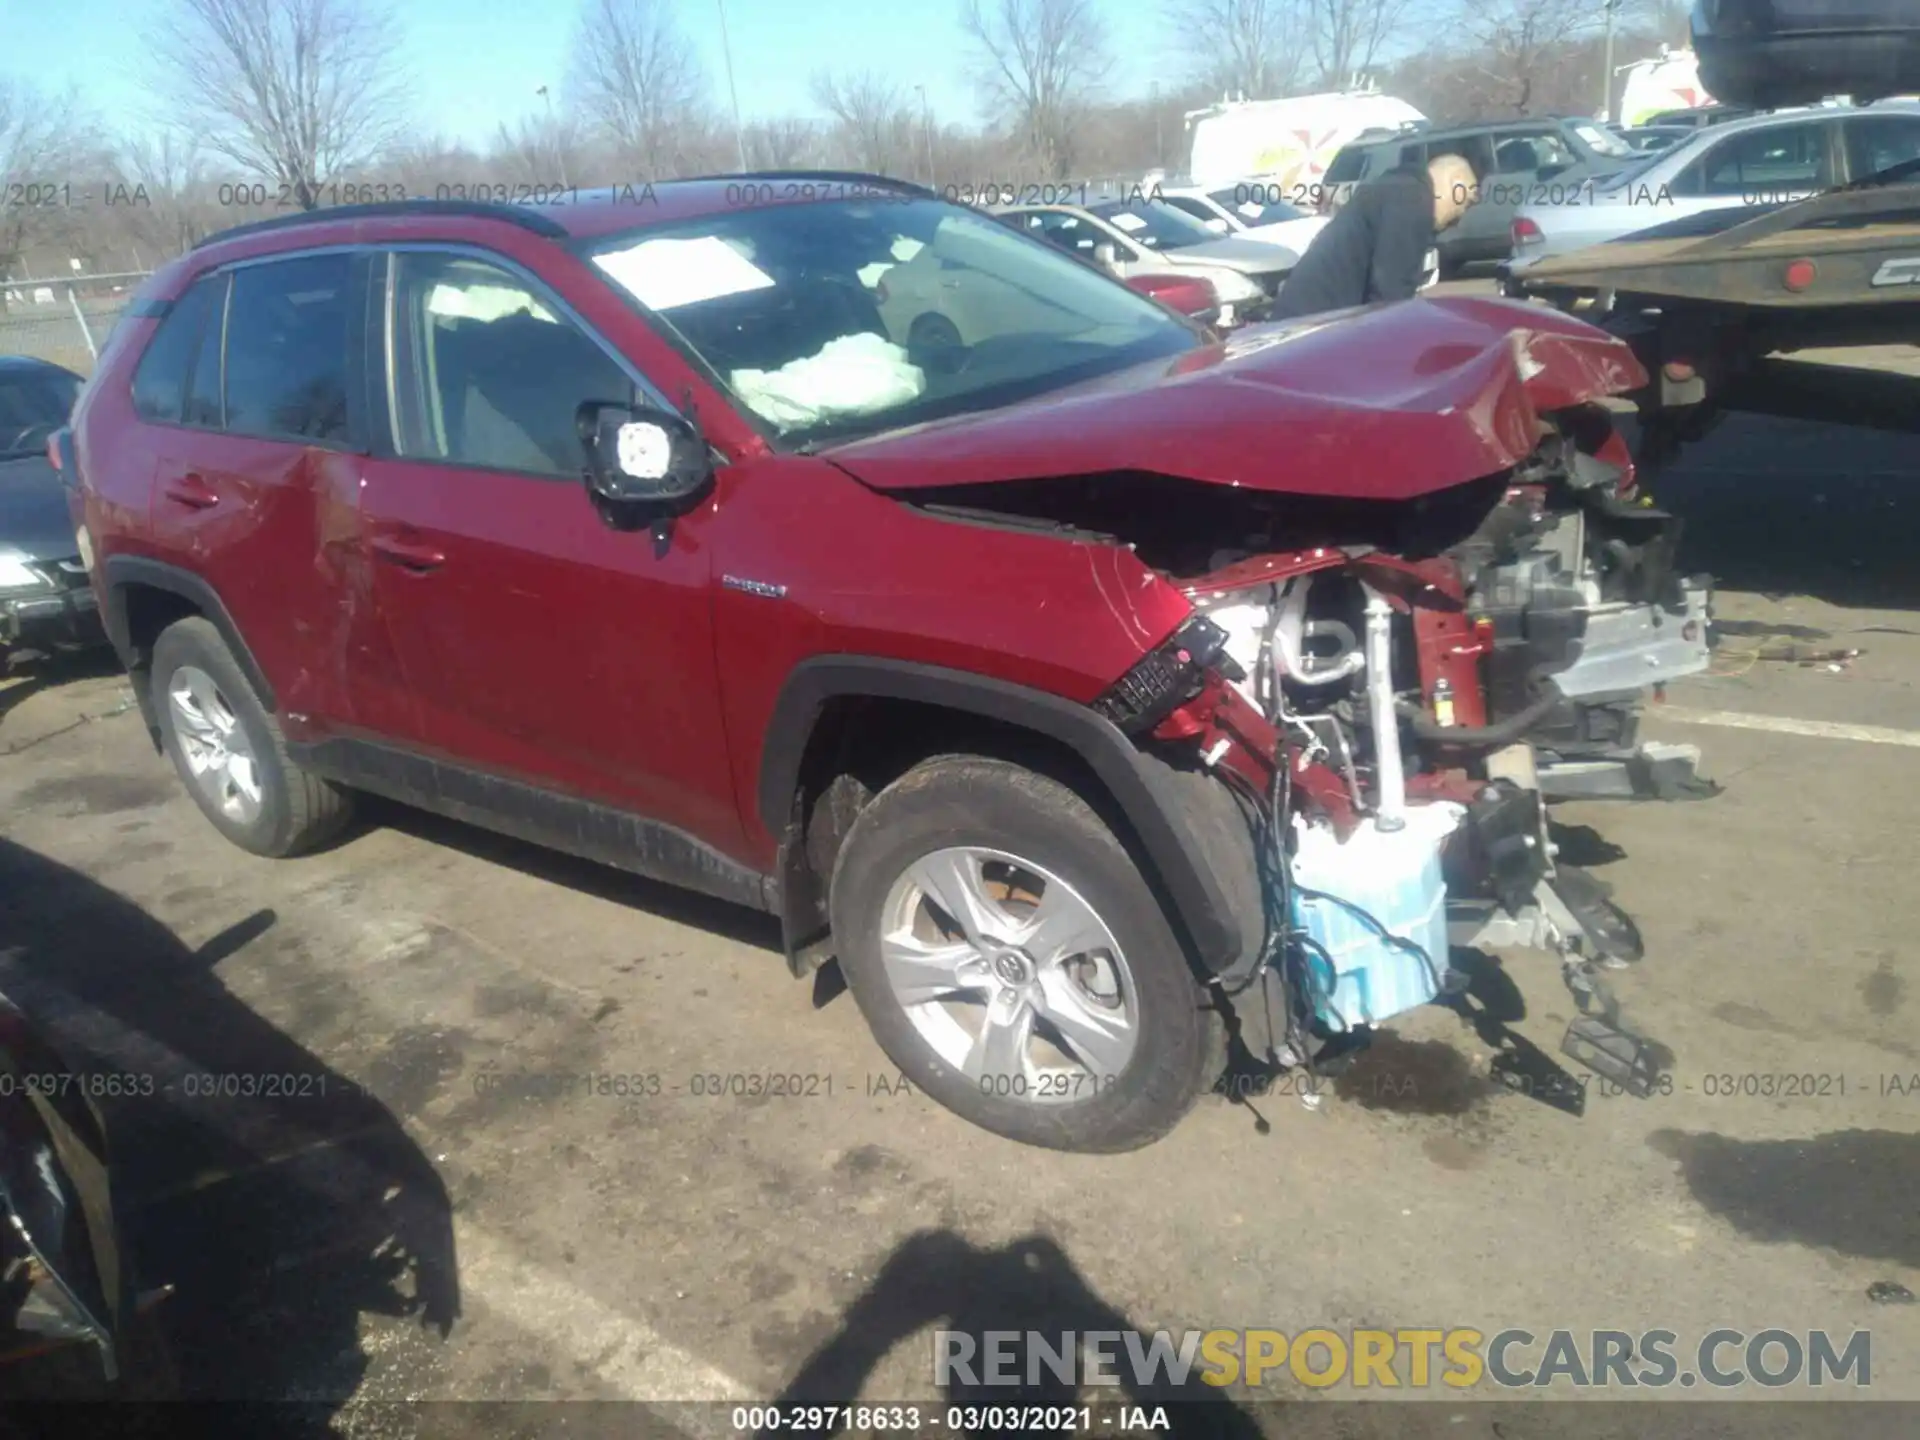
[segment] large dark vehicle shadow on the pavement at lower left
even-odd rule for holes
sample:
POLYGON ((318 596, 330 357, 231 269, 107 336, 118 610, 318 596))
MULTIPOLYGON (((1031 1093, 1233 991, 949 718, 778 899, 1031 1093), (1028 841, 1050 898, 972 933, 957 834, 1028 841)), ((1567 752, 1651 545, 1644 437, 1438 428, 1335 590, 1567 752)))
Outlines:
POLYGON ((213 973, 273 924, 236 916, 190 950, 125 897, 0 839, 0 991, 108 1091, 96 1104, 136 1286, 175 1286, 154 1315, 179 1394, 298 1398, 313 1419, 367 1373, 363 1315, 445 1336, 461 1296, 426 1156, 213 973))

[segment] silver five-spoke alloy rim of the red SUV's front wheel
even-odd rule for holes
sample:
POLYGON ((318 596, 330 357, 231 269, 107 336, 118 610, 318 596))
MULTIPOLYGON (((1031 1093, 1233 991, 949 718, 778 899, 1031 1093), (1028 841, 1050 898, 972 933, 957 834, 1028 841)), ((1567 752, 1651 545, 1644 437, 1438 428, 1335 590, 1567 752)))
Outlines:
POLYGON ((1064 879, 1004 851, 922 856, 893 881, 879 958, 920 1037, 983 1094, 1089 1100, 1139 1044, 1114 931, 1064 879))

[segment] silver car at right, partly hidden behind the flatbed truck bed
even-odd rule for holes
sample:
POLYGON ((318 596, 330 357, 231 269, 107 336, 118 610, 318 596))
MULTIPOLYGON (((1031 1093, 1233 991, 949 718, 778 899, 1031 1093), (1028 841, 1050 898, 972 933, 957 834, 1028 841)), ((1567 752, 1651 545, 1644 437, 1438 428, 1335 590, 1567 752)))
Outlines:
POLYGON ((1513 217, 1511 269, 1736 205, 1780 205, 1920 157, 1920 104, 1820 106, 1709 125, 1563 204, 1513 217))

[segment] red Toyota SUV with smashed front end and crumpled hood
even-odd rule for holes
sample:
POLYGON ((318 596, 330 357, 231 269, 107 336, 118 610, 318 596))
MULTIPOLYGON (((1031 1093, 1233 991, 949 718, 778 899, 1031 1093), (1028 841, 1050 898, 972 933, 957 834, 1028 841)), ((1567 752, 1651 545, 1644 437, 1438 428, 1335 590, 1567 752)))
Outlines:
POLYGON ((215 236, 54 455, 236 845, 372 791, 768 910, 935 1098, 1117 1150, 1463 925, 1607 958, 1523 760, 1592 605, 1672 609, 1596 405, 1642 378, 1496 300, 1219 340, 929 192, 730 177, 215 236))

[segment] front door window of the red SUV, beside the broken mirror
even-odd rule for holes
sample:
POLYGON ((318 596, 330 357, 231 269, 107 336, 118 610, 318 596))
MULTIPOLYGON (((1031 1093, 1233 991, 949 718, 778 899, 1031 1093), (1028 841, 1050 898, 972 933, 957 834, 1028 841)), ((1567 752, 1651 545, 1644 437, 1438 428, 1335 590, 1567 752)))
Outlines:
POLYGON ((632 403, 634 380, 526 280, 465 255, 394 255, 394 447, 399 455, 576 480, 584 401, 632 403))

